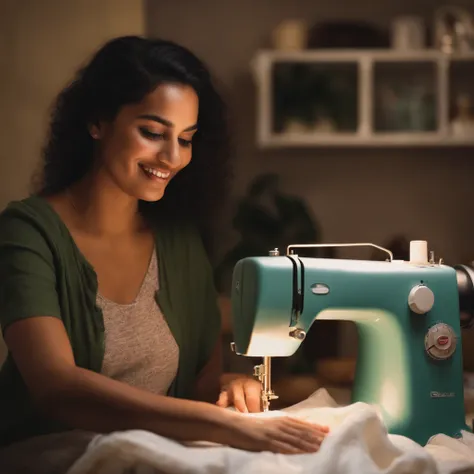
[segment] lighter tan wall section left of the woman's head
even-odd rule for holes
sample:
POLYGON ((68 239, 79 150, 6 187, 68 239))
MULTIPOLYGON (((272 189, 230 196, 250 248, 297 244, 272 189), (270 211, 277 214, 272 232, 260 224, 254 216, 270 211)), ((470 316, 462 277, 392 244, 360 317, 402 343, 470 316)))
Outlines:
POLYGON ((48 107, 74 70, 107 39, 143 32, 141 0, 2 0, 0 209, 27 193, 48 107))

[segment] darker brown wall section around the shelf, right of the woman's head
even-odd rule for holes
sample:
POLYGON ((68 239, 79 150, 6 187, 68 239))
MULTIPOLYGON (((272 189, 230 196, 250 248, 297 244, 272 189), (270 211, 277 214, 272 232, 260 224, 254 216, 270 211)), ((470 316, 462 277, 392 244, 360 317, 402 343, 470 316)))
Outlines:
MULTIPOLYGON (((309 22, 356 19, 388 26, 394 15, 431 23, 438 0, 147 1, 150 35, 178 41, 207 61, 229 92, 236 122, 235 194, 263 171, 283 176, 321 221, 326 241, 384 243, 393 233, 428 239, 445 261, 474 259, 473 151, 466 149, 258 150, 255 146, 253 54, 288 17, 309 22)), ((472 0, 456 1, 472 7, 472 0)), ((229 234, 229 237, 232 234, 229 234)), ((345 347, 354 346, 354 334, 345 347)), ((474 344, 472 344, 474 347, 474 344)))

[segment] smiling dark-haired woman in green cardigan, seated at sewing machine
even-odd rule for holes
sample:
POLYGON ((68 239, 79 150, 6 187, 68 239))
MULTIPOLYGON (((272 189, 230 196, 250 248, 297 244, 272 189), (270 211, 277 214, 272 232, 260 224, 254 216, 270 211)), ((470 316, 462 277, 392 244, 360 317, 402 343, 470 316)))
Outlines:
POLYGON ((219 379, 202 242, 227 151, 209 74, 176 44, 115 39, 59 95, 39 190, 0 216, 4 460, 50 443, 71 463, 94 433, 127 429, 318 449, 326 427, 262 424, 239 413, 259 410, 257 382, 219 379))

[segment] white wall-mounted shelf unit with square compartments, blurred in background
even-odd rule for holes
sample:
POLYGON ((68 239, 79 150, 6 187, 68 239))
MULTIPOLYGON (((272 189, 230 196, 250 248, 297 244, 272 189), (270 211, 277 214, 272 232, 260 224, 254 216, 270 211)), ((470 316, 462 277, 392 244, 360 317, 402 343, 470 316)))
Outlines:
POLYGON ((270 50, 252 68, 261 147, 474 146, 453 125, 461 97, 474 105, 474 53, 270 50))

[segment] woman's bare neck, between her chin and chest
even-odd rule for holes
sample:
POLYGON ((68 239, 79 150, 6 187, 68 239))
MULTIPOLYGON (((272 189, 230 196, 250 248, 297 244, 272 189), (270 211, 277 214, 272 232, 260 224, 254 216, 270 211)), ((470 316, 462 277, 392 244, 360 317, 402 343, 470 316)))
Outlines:
POLYGON ((138 200, 125 194, 103 172, 87 176, 67 191, 81 231, 97 236, 120 236, 144 228, 138 200))

